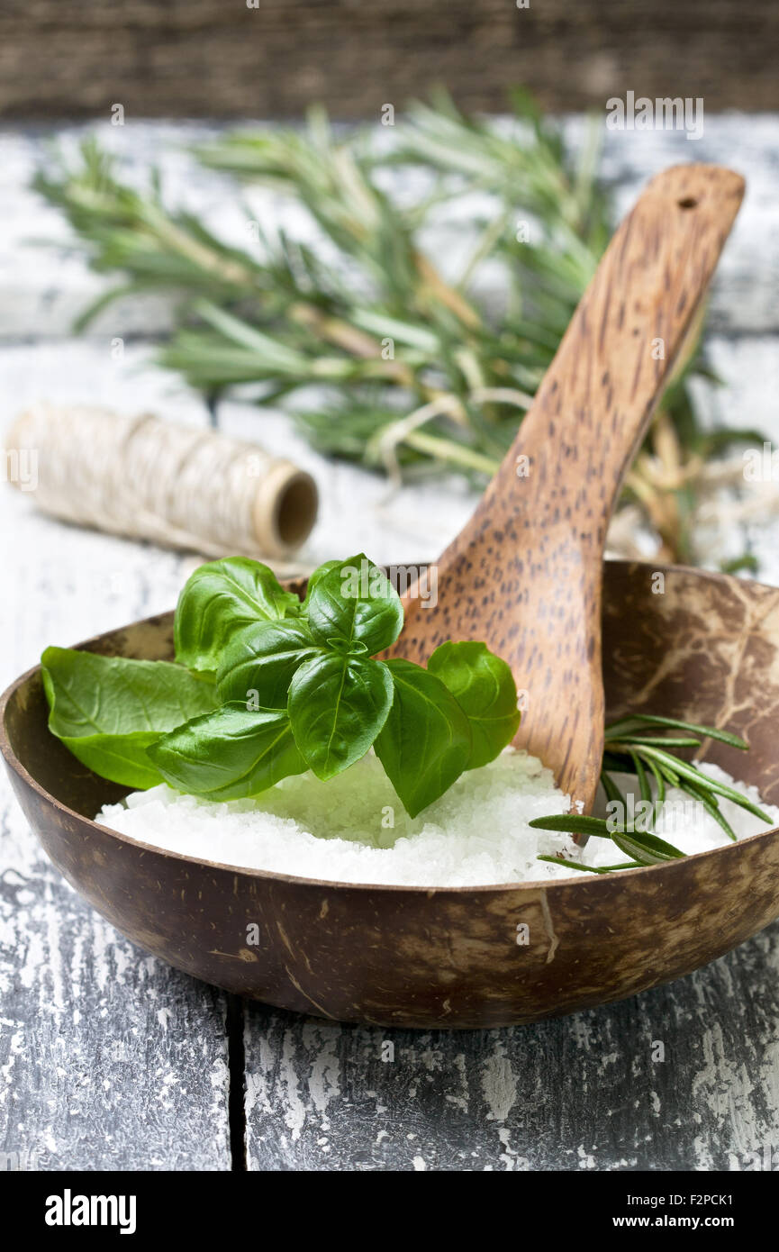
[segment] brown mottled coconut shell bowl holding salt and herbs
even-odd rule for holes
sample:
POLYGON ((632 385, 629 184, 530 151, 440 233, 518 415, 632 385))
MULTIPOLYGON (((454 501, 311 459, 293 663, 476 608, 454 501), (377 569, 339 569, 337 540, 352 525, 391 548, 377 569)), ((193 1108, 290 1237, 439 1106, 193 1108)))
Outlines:
MULTIPOLYGON (((669 568, 656 595, 655 572, 605 566, 609 714, 644 707, 744 732, 749 754, 718 744, 708 755, 779 803, 779 590, 669 568)), ((172 623, 168 613, 84 646, 167 660, 172 623)), ((143 948, 283 1008, 398 1027, 532 1022, 679 978, 779 916, 779 830, 614 876, 438 891, 159 851, 89 820, 123 793, 48 732, 39 669, 8 690, 0 715, 20 804, 75 889, 143 948), (247 945, 252 923, 259 947, 247 945)))

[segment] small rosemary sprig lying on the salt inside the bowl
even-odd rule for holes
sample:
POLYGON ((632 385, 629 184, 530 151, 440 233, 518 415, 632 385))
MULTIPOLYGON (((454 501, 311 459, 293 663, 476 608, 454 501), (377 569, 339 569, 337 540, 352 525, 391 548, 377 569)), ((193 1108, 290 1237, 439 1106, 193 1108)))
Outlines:
MULTIPOLYGON (((758 805, 753 804, 748 796, 740 791, 726 786, 704 774, 695 765, 685 761, 670 747, 700 747, 701 737, 715 739, 728 744, 730 747, 748 749, 748 744, 733 735, 730 731, 719 730, 715 726, 701 726, 696 722, 680 721, 676 717, 661 717, 654 714, 631 714, 620 717, 606 726, 604 766, 601 769, 601 784, 609 804, 619 806, 615 813, 622 815, 622 820, 605 818, 591 818, 579 814, 560 814, 549 818, 535 818, 530 825, 536 830, 556 830, 562 834, 575 834, 581 836, 581 845, 589 838, 611 839, 621 853, 631 860, 619 865, 605 865, 594 868, 581 865, 577 861, 566 860, 560 856, 539 856, 539 860, 550 861, 552 865, 565 865, 567 869, 585 869, 594 873, 605 874, 619 869, 639 869, 642 865, 656 865, 666 860, 675 860, 685 854, 673 844, 660 839, 647 826, 645 814, 639 825, 627 819, 627 799, 620 791, 611 777, 610 770, 620 770, 625 774, 635 774, 639 796, 645 804, 656 806, 663 804, 669 786, 676 788, 689 795, 698 804, 701 804, 706 813, 721 826, 728 838, 736 841, 733 826, 723 814, 720 798, 731 800, 770 825, 770 818, 758 805), (645 731, 653 729, 665 729, 683 731, 683 735, 653 735, 645 731), (656 796, 653 801, 650 776, 655 782, 656 796)), ((654 808, 656 815, 656 808, 654 808)))

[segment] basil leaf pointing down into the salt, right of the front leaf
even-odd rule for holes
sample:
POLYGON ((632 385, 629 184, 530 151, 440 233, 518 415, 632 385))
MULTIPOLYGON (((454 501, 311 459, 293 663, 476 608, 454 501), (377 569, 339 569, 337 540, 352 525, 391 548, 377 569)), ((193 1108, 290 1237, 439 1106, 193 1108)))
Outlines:
POLYGON ((422 809, 460 777, 473 750, 468 719, 448 687, 412 661, 387 661, 395 685, 376 755, 407 813, 422 809))

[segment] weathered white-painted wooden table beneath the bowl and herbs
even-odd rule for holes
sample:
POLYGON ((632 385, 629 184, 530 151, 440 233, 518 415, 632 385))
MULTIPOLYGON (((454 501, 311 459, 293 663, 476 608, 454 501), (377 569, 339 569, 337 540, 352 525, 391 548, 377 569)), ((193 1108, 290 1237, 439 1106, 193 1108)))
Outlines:
MULTIPOLYGON (((121 141, 142 159, 160 134, 145 126, 121 141)), ((622 139, 605 170, 625 202, 693 146, 650 134, 637 151, 622 139)), ((95 279, 20 243, 56 229, 23 192, 38 143, 0 134, 4 422, 41 396, 205 421, 175 379, 138 369, 148 348, 137 314, 104 319, 88 341, 66 337, 95 279), (109 351, 116 334, 121 361, 109 351)), ((713 121, 694 155, 750 180, 714 299, 710 346, 726 386, 701 388, 700 402, 779 434, 779 119, 713 121)), ((149 312, 143 328, 164 317, 149 312)), ((239 404, 222 421, 258 429, 239 404)), ((319 480, 311 563, 354 546, 357 508, 372 556, 418 561, 473 505, 455 483, 387 501, 381 482, 322 462, 282 418, 261 437, 319 480)), ((776 526, 748 537, 763 577, 779 581, 776 526)), ((0 552, 3 686, 46 644, 170 607, 193 563, 61 526, 6 487, 0 552)), ((779 925, 671 987, 562 1020, 436 1034, 342 1027, 242 1005, 134 948, 45 861, 5 779, 0 820, 0 1167, 694 1171, 765 1168, 771 1153, 779 1164, 779 925)))

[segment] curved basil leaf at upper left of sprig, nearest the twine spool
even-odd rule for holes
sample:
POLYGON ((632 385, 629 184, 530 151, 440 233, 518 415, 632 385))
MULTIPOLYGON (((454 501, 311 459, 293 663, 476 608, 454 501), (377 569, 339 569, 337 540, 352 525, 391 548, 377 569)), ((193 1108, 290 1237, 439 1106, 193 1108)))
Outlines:
POLYGON ((190 670, 217 670, 235 631, 250 622, 294 617, 301 601, 267 565, 245 556, 209 561, 187 580, 175 610, 175 659, 190 670))

